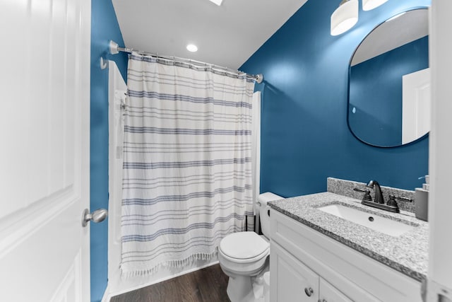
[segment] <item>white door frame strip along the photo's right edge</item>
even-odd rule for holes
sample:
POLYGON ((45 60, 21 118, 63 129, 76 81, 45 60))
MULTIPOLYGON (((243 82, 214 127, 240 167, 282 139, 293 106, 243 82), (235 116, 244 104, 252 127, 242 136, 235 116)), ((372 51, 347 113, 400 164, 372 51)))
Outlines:
POLYGON ((429 134, 429 272, 427 301, 452 301, 452 1, 432 1, 430 66, 432 132, 429 134))

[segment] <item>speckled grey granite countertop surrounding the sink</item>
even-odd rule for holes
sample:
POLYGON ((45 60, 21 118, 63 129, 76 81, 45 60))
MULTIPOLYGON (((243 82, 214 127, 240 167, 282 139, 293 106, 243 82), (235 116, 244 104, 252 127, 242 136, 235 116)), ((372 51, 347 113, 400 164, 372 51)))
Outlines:
POLYGON ((429 259, 429 223, 416 219, 408 211, 395 214, 364 206, 360 202, 351 197, 323 192, 269 202, 268 205, 408 277, 418 281, 425 279, 429 259), (317 209, 337 203, 348 204, 388 219, 402 220, 416 227, 401 236, 393 237, 317 209))

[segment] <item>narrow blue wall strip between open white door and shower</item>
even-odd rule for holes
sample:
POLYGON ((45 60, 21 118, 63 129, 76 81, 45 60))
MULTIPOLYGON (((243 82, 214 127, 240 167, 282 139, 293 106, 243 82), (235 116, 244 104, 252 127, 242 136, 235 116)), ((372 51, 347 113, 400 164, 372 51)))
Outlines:
MULTIPOLYGON (((100 69, 100 57, 114 59, 124 79, 126 54, 108 53, 108 42, 124 46, 111 0, 91 4, 91 116, 90 209, 108 209, 108 69, 100 69)), ((100 301, 107 287, 108 223, 90 223, 91 301, 100 301)))

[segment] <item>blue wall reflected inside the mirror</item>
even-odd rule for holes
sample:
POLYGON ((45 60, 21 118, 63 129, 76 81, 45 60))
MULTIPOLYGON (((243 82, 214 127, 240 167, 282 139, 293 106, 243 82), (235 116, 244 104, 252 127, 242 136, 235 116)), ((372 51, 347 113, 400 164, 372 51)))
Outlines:
POLYGON ((352 66, 348 108, 352 132, 376 146, 402 144, 403 76, 428 67, 428 37, 352 66))

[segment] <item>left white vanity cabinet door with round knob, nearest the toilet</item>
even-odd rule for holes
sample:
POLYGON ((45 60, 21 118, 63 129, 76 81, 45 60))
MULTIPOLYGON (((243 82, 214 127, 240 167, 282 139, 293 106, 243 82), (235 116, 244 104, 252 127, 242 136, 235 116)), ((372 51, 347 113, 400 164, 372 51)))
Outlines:
POLYGON ((270 244, 270 301, 317 302, 319 275, 277 243, 270 244))

